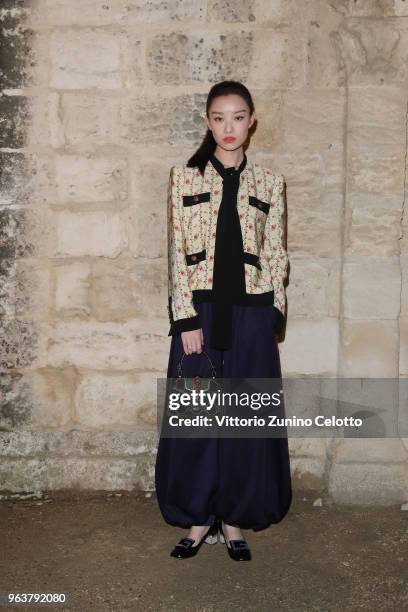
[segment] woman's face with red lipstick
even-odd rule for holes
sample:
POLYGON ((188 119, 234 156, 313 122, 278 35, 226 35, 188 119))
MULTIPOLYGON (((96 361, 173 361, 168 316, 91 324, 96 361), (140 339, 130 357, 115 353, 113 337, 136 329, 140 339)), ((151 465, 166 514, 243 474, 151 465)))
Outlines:
POLYGON ((214 140, 225 151, 241 147, 248 137, 248 130, 255 121, 247 103, 237 94, 214 98, 206 117, 207 126, 214 140))

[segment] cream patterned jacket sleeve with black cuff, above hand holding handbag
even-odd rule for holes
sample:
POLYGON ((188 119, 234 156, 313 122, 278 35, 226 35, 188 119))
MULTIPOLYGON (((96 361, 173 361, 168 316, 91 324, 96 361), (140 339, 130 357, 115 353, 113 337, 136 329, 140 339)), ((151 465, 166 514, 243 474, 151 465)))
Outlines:
POLYGON ((173 166, 167 192, 169 336, 201 327, 193 305, 185 256, 183 180, 183 167, 173 166))

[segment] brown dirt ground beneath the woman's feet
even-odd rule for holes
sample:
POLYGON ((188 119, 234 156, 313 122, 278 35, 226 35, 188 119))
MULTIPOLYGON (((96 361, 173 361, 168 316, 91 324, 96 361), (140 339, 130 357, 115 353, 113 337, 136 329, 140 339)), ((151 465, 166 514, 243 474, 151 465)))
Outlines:
POLYGON ((408 610, 408 512, 313 501, 298 493, 279 524, 244 531, 248 563, 231 560, 225 544, 170 557, 186 531, 164 523, 154 494, 3 500, 0 591, 65 592, 68 601, 0 610, 408 610))

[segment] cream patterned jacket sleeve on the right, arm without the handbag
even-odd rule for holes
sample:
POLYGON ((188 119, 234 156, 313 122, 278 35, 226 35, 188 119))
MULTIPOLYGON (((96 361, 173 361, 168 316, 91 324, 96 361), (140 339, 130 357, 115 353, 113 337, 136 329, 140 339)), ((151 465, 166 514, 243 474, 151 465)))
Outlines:
POLYGON ((284 245, 285 177, 275 175, 268 218, 265 223, 263 256, 269 264, 274 289, 275 332, 283 328, 286 314, 284 280, 288 269, 288 255, 284 245))

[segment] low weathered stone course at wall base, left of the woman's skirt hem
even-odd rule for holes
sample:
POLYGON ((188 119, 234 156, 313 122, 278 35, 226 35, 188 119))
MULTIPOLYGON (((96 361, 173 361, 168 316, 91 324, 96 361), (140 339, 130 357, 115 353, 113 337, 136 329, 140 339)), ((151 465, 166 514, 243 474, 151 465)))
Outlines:
POLYGON ((155 431, 0 432, 0 488, 154 490, 157 442, 155 431))

